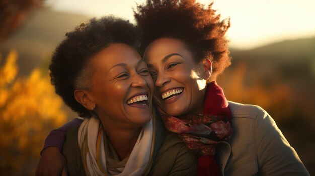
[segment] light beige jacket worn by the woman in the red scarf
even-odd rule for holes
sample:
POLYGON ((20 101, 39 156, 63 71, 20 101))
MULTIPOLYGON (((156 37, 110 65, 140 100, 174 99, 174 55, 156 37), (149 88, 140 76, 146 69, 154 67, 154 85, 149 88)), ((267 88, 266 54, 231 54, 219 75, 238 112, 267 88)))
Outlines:
POLYGON ((228 103, 233 135, 217 146, 215 154, 222 175, 309 175, 265 110, 228 103))

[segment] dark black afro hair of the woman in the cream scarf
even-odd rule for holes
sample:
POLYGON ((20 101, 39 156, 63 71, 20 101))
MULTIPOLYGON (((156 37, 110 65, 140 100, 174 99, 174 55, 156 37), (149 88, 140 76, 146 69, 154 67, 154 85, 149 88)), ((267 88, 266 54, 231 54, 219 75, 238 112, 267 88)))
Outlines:
MULTIPOLYGON (((50 77, 56 93, 80 117, 91 117, 89 110, 74 98, 74 90, 84 88, 77 85, 89 80, 91 76, 85 74, 85 70, 92 70, 87 69, 89 60, 114 43, 125 43, 138 49, 140 46, 138 32, 139 30, 129 21, 107 16, 101 19, 92 18, 88 23, 83 23, 74 31, 66 33, 66 39, 53 53, 49 65, 50 77)), ((87 86, 91 85, 88 83, 87 86)))

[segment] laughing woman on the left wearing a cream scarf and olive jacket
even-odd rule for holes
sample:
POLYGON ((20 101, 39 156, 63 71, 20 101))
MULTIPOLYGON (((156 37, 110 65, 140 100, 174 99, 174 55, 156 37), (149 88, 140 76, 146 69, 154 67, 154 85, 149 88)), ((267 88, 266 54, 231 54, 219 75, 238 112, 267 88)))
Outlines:
POLYGON ((196 156, 152 107, 154 83, 136 50, 136 27, 109 16, 66 36, 49 67, 51 82, 85 118, 51 133, 66 131, 64 144, 42 152, 36 175, 193 175, 196 156))

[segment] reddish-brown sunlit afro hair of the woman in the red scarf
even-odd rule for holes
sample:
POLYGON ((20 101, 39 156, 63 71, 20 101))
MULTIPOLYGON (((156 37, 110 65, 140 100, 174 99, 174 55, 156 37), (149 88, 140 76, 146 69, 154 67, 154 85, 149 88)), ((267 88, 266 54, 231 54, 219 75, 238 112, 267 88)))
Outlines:
POLYGON ((170 37, 183 41, 196 62, 212 61, 212 78, 216 79, 231 64, 225 33, 228 20, 220 21, 212 4, 207 9, 194 0, 147 0, 137 5, 134 16, 141 30, 141 54, 154 40, 170 37))

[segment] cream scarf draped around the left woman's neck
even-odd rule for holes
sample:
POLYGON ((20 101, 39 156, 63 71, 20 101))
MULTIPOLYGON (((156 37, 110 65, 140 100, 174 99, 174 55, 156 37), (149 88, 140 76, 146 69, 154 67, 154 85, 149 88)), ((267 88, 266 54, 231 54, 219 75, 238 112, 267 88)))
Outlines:
POLYGON ((106 153, 104 146, 104 133, 101 133, 99 146, 97 146, 97 137, 101 123, 98 118, 91 117, 85 119, 80 125, 78 131, 78 143, 80 146, 83 165, 87 175, 141 175, 148 165, 152 138, 153 123, 150 122, 142 127, 138 140, 129 156, 124 168, 121 168, 120 174, 114 174, 107 170, 106 153), (97 163, 97 147, 101 155, 99 164, 97 163), (85 154, 84 154, 85 153, 85 154), (105 173, 105 174, 104 174, 105 173))

